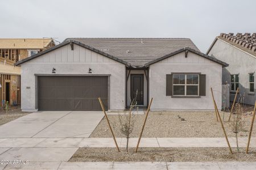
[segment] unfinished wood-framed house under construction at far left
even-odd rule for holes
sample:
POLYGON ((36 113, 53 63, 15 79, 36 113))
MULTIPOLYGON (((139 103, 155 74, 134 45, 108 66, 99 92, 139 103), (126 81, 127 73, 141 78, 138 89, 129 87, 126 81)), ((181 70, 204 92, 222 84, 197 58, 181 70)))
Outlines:
POLYGON ((0 107, 20 103, 20 67, 14 63, 54 45, 52 39, 0 39, 0 107))

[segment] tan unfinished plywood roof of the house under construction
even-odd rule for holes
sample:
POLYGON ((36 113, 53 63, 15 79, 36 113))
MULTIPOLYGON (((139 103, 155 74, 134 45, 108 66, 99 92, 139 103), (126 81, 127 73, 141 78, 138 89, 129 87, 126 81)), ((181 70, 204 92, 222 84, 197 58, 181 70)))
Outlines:
POLYGON ((0 49, 45 49, 50 42, 53 39, 0 39, 0 49))

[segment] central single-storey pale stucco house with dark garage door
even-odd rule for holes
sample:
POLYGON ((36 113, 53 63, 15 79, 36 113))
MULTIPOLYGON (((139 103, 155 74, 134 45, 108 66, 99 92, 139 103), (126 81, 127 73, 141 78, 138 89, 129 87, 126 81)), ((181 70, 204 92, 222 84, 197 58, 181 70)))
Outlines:
POLYGON ((199 51, 190 39, 66 39, 19 61, 23 111, 221 108, 221 72, 228 66, 199 51))

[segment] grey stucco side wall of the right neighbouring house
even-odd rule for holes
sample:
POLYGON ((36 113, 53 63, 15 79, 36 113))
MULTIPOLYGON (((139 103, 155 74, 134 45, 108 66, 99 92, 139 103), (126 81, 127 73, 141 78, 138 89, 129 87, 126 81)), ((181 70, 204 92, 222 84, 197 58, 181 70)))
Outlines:
MULTIPOLYGON (((256 57, 219 39, 216 40, 208 55, 229 63, 229 67, 222 71, 222 83, 228 82, 230 84, 230 75, 239 74, 240 96, 245 95, 245 104, 254 105, 256 100, 255 76, 254 93, 251 93, 249 92, 249 73, 255 73, 256 71, 256 57)), ((234 96, 234 93, 230 93, 231 101, 234 100, 234 96)))

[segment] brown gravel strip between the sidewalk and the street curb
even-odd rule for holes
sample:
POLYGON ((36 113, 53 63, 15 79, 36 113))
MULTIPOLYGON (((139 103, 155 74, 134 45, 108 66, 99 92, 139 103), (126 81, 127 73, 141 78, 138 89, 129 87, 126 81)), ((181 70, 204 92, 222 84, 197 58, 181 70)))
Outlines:
MULTIPOLYGON (((225 162, 256 161, 256 148, 250 153, 229 154, 228 148, 79 148, 69 162, 225 162)), ((235 151, 236 148, 233 148, 235 151)))

